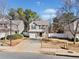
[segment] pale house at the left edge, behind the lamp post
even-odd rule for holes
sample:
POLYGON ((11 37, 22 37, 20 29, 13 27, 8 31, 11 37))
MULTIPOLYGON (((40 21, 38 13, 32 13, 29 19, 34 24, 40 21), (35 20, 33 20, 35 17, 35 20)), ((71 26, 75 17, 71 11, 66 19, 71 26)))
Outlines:
POLYGON ((24 23, 21 20, 10 20, 6 17, 0 18, 0 38, 5 35, 12 35, 16 32, 22 33, 24 30, 24 23))

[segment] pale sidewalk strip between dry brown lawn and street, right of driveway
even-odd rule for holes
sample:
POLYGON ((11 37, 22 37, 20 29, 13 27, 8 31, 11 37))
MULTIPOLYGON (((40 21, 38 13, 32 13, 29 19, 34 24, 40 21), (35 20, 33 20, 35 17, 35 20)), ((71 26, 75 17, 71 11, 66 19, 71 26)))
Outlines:
POLYGON ((71 50, 64 50, 64 49, 42 48, 40 52, 48 55, 79 57, 79 53, 71 50))

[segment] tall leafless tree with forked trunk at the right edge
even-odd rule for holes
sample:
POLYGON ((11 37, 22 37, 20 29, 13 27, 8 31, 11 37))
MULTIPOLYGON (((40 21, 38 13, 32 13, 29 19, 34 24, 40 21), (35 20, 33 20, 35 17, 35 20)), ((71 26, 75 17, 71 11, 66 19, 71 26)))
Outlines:
POLYGON ((66 14, 66 17, 64 18, 64 23, 66 25, 68 25, 68 29, 74 37, 74 44, 75 44, 78 22, 76 23, 76 27, 75 27, 74 31, 72 31, 70 23, 73 20, 79 19, 78 18, 78 15, 79 15, 79 0, 74 0, 74 1, 73 0, 62 0, 62 1, 63 1, 62 9, 63 9, 63 12, 66 14), (73 11, 74 8, 76 9, 76 13, 73 11), (73 15, 72 15, 72 13, 73 13, 73 15), (76 14, 76 15, 74 15, 74 14, 76 14))

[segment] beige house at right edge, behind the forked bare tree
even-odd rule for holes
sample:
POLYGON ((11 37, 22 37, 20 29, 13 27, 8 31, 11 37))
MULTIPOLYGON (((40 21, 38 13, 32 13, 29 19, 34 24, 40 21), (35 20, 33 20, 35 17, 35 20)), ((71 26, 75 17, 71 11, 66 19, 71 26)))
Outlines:
MULTIPOLYGON (((79 23, 79 20, 74 20, 69 25, 64 27, 65 29, 64 33, 67 35, 67 38, 74 38, 72 33, 75 32, 77 22, 79 23)), ((76 37, 79 38, 79 24, 77 27, 76 37)))

